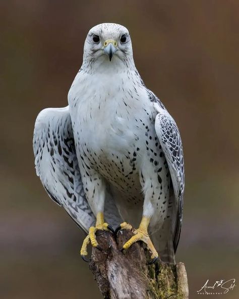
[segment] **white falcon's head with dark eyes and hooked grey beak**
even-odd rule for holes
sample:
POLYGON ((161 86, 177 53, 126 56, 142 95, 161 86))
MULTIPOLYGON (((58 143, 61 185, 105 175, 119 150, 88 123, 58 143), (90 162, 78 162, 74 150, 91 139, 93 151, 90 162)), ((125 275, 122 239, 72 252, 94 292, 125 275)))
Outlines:
POLYGON ((96 66, 133 62, 129 31, 113 23, 103 23, 90 29, 84 45, 83 61, 96 66))

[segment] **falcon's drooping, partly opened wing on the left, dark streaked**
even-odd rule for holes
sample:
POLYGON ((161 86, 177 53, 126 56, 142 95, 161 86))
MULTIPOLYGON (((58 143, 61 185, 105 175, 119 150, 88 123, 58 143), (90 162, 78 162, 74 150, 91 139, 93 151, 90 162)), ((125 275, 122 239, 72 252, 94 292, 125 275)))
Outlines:
POLYGON ((48 195, 87 232, 95 217, 83 190, 68 107, 39 113, 33 151, 36 173, 48 195))

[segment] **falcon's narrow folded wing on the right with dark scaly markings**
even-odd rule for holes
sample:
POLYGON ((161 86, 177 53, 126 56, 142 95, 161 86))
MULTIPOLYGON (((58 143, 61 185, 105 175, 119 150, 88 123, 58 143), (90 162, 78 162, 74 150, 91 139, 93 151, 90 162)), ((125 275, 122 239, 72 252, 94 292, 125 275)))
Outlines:
POLYGON ((155 118, 155 130, 166 157, 177 205, 173 237, 173 247, 174 252, 176 252, 177 244, 180 239, 183 216, 185 185, 183 146, 180 132, 178 131, 174 119, 170 116, 167 110, 157 102, 154 103, 154 107, 158 112, 155 118))

